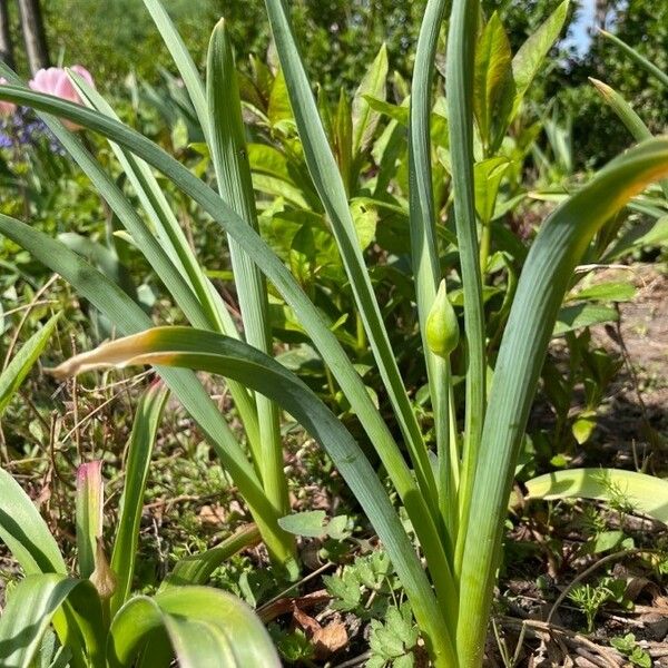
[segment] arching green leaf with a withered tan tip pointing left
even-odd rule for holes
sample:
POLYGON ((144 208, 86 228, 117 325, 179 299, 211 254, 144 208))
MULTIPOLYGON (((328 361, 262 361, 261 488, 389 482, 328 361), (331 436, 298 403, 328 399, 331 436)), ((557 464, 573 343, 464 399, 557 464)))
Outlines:
MULTIPOLYGON (((406 590, 421 628, 436 656, 452 658, 442 609, 392 508, 387 493, 362 450, 325 404, 294 373, 245 343, 189 327, 157 327, 105 344, 61 364, 70 375, 98 366, 158 364, 232 376, 262 392, 293 415, 325 448, 364 509, 406 590), (439 635, 434 635, 439 633, 439 635)), ((453 664, 445 664, 453 665, 453 664)))

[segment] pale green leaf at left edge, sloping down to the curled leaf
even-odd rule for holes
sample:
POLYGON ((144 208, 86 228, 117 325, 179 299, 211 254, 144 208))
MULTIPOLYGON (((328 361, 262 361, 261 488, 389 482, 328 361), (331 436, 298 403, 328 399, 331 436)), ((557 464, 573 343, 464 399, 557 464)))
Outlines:
POLYGON ((27 574, 66 573, 58 544, 21 485, 0 469, 0 539, 27 574))

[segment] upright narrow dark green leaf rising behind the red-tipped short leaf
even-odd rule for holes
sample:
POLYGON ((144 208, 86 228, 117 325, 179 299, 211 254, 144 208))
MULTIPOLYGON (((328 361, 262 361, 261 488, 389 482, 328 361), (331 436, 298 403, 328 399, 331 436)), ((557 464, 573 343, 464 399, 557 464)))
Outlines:
POLYGON ((111 552, 111 570, 117 578, 116 591, 110 601, 111 616, 127 601, 132 586, 144 493, 156 434, 168 396, 169 391, 165 385, 154 383, 141 396, 135 413, 127 448, 118 529, 111 552))

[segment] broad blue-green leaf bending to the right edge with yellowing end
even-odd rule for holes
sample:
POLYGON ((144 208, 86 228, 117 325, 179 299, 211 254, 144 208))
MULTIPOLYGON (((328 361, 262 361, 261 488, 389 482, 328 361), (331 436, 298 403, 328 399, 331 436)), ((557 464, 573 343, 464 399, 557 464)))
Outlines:
POLYGON ((651 139, 612 160, 540 228, 527 256, 499 351, 475 473, 460 600, 463 665, 480 661, 503 517, 529 410, 563 295, 596 232, 650 183, 668 174, 668 139, 651 139))

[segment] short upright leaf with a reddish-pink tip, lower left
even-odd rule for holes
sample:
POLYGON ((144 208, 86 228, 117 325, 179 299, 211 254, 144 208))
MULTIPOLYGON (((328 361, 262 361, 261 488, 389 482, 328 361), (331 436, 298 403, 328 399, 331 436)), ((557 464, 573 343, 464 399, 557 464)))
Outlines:
POLYGON ((96 567, 98 540, 102 538, 105 504, 102 462, 96 460, 77 469, 76 521, 79 576, 90 578, 96 567))

